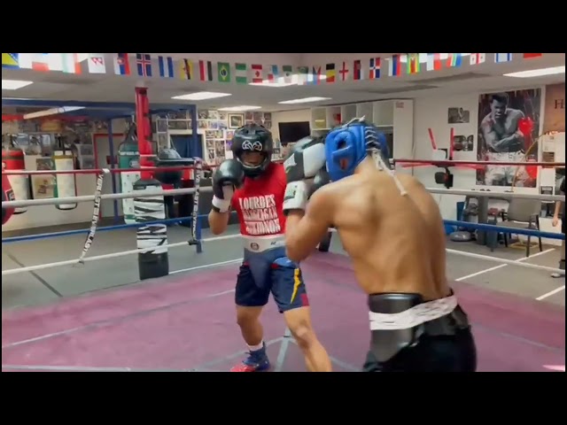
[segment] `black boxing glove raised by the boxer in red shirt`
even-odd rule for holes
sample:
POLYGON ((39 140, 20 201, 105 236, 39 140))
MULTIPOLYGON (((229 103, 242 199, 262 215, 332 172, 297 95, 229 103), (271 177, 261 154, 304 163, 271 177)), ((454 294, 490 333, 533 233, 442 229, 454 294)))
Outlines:
POLYGON ((245 170, 236 159, 222 162, 213 174, 213 210, 228 213, 235 189, 245 181, 245 170))

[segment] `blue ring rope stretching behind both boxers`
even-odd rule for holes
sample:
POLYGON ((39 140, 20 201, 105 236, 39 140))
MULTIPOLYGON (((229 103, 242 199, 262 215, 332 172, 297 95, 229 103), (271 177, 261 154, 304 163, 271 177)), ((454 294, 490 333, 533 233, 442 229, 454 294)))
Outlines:
MULTIPOLYGON (((201 219, 206 216, 207 214, 201 214, 198 215, 197 217, 198 219, 201 219)), ((145 223, 119 224, 116 226, 105 226, 103 228, 98 228, 97 232, 109 232, 111 230, 120 230, 122 228, 139 228, 140 226, 147 226, 149 224, 181 223, 190 220, 191 220, 190 217, 182 217, 179 219, 155 220, 155 221, 148 221, 145 223)), ((565 240, 565 235, 563 235, 563 233, 540 232, 538 230, 531 230, 528 228, 505 228, 501 226, 495 226, 493 224, 470 223, 468 221, 443 220, 443 222, 449 226, 456 226, 457 228, 470 228, 470 229, 486 230, 486 231, 493 231, 499 233, 509 233, 514 235, 546 237, 548 239, 558 239, 560 241, 565 240)), ((82 235, 85 233, 89 233, 89 231, 90 231, 89 228, 81 228, 77 230, 66 230, 63 232, 54 232, 54 233, 42 233, 38 235, 13 236, 2 239, 2 243, 14 243, 14 242, 34 241, 37 239, 50 239, 53 237, 82 235)))

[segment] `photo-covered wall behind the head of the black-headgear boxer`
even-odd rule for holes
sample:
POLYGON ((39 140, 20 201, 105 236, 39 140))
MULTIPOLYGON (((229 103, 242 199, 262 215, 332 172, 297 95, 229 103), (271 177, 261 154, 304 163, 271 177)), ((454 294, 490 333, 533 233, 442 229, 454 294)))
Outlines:
MULTIPOLYGON (((222 112, 198 110, 198 131, 204 136, 203 158, 206 164, 217 165, 232 158, 231 140, 234 130, 245 124, 256 122, 272 128, 271 112, 222 112)), ((170 130, 190 132, 191 120, 187 112, 170 112, 166 118, 155 120, 155 135, 159 150, 169 147, 170 130)), ((279 158, 281 147, 275 146, 274 156, 279 158)))

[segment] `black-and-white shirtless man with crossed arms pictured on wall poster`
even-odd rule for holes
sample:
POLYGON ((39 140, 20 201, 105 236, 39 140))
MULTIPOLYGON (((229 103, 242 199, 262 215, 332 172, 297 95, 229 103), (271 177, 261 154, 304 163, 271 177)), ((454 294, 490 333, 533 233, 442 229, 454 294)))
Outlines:
MULTIPOLYGON (((506 93, 493 95, 491 112, 480 123, 488 161, 524 161, 524 135, 518 128, 524 112, 509 108, 508 102, 506 93)), ((517 166, 486 166, 485 184, 511 186, 516 169, 517 166)))

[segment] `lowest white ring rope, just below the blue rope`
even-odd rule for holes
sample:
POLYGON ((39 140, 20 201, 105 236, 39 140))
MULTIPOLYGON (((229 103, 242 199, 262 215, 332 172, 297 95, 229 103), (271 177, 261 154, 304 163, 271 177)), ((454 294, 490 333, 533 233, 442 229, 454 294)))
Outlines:
MULTIPOLYGON (((331 232, 337 232, 336 228, 330 228, 329 230, 331 232)), ((208 238, 205 238, 205 239, 201 239, 199 242, 201 242, 201 243, 216 242, 216 241, 222 241, 222 240, 226 240, 226 239, 232 239, 232 238, 235 238, 235 237, 241 237, 241 235, 236 234, 236 235, 227 235, 227 236, 208 237, 208 238)), ((178 243, 169 243, 169 244, 161 245, 161 248, 177 248, 179 246, 188 246, 188 245, 189 245, 189 243, 187 243, 187 242, 178 242, 178 243)), ((89 257, 89 258, 83 259, 82 262, 86 263, 87 261, 98 261, 100 259, 114 259, 114 258, 118 258, 118 257, 126 257, 128 255, 135 255, 135 254, 139 254, 139 253, 143 253, 143 252, 150 252, 150 251, 154 251, 154 250, 155 250, 155 247, 144 248, 144 249, 141 249, 141 250, 113 252, 112 254, 104 254, 104 255, 97 255, 95 257, 89 257)), ((537 264, 529 264, 529 263, 525 263, 525 262, 520 263, 520 262, 517 262, 517 261, 513 261, 511 259, 500 259, 500 258, 497 258, 497 257, 490 257, 490 256, 487 256, 487 255, 473 254, 472 252, 466 252, 466 251, 449 250, 449 249, 447 249, 446 251, 450 254, 461 255, 462 257, 470 257, 472 259, 484 259, 486 261, 492 261, 494 263, 507 264, 509 266, 525 267, 525 268, 532 268, 534 270, 544 270, 546 272, 565 274, 565 270, 562 270, 560 268, 555 268, 555 267, 539 266, 537 264)), ((37 270, 43 270, 43 269, 46 269, 46 268, 64 267, 64 266, 71 266, 71 265, 75 265, 75 264, 77 264, 76 259, 69 259, 69 260, 66 260, 66 261, 58 261, 56 263, 38 264, 37 266, 11 268, 9 270, 3 270, 2 275, 6 276, 6 275, 9 275, 9 274, 35 272, 37 270)))

